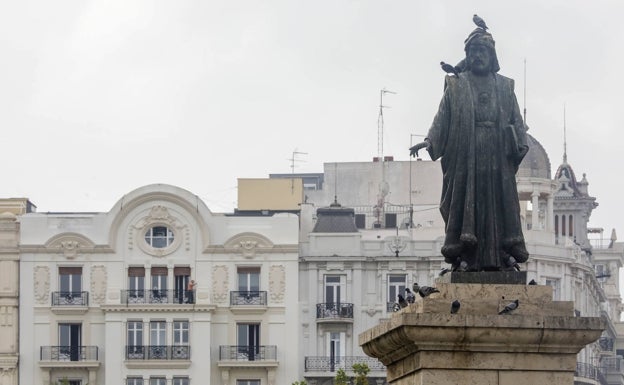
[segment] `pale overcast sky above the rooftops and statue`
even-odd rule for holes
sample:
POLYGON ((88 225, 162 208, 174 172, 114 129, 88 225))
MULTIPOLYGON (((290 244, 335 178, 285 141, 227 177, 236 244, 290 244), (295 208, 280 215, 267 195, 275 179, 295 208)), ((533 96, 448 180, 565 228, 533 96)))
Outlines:
POLYGON ((483 17, 530 133, 587 173, 590 225, 624 240, 622 1, 3 1, 0 197, 38 211, 108 211, 173 184, 215 212, 237 178, 407 160, 483 17), (526 59, 526 95, 524 62, 526 59))

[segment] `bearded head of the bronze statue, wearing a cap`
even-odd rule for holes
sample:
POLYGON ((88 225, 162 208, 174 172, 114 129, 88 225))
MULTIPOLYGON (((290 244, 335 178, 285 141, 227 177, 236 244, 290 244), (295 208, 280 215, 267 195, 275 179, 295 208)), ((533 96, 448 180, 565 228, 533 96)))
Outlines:
POLYGON ((492 35, 481 28, 470 33, 464 41, 466 51, 466 70, 476 75, 486 75, 500 70, 494 39, 492 35))

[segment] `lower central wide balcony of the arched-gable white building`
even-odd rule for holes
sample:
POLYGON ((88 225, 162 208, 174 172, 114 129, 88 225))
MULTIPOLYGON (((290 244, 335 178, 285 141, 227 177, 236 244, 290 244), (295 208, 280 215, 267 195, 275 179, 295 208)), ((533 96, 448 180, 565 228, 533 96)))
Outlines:
POLYGON ((130 369, 185 369, 191 365, 187 345, 126 345, 126 366, 130 369))

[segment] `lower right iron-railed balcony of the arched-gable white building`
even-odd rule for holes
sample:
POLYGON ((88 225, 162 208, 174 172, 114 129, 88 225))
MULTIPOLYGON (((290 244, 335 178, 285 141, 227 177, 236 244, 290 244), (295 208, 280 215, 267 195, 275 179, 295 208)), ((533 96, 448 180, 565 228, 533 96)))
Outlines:
POLYGON ((219 346, 220 367, 274 367, 277 364, 276 345, 219 346))

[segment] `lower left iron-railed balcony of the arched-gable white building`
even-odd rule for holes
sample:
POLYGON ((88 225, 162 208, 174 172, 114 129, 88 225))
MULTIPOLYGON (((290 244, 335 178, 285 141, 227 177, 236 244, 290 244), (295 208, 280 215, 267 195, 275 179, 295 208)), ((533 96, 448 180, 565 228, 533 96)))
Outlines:
POLYGON ((100 366, 97 346, 41 346, 41 368, 97 368, 100 366))

